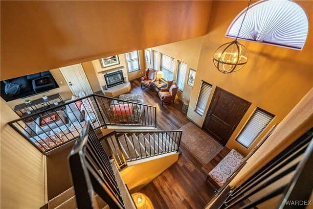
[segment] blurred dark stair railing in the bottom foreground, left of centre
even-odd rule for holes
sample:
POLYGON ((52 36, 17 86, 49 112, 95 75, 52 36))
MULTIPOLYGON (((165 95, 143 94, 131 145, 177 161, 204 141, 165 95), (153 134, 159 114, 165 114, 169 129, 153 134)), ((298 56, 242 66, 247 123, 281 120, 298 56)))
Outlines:
POLYGON ((111 162, 89 122, 76 140, 68 161, 78 209, 98 208, 96 194, 110 208, 125 209, 111 162))

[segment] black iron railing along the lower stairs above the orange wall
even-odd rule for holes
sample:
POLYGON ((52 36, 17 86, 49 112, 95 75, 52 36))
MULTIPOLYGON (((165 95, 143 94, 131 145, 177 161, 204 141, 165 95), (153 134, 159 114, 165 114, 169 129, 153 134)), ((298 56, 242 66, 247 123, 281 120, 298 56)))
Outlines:
POLYGON ((178 152, 182 131, 114 131, 104 139, 121 169, 127 162, 178 152))

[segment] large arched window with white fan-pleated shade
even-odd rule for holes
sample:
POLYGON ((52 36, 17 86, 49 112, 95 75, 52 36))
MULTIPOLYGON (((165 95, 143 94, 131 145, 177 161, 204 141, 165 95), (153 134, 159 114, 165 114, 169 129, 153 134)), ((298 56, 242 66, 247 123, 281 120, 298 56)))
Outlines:
MULTIPOLYGON (((237 36, 245 11, 230 25, 227 36, 237 36)), ((239 38, 301 49, 308 29, 308 18, 297 3, 291 0, 264 0, 249 8, 239 38)))

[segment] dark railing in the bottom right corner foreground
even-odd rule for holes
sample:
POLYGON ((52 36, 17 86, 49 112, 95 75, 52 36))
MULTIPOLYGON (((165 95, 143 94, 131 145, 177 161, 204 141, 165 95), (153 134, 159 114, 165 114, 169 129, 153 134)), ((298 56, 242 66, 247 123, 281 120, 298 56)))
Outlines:
POLYGON ((211 199, 210 208, 250 209, 266 204, 268 200, 279 195, 278 200, 271 202, 272 208, 305 208, 312 204, 309 200, 313 189, 312 162, 313 129, 293 142, 240 186, 233 188, 227 186, 219 191, 211 199), (291 179, 288 180, 290 175, 291 179))

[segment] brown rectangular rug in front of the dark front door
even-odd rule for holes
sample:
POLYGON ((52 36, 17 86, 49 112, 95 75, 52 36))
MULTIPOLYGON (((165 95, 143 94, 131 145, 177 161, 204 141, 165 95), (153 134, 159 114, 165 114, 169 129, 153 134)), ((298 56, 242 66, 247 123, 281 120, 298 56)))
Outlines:
POLYGON ((212 139, 204 131, 198 128, 192 122, 187 123, 179 130, 182 130, 181 141, 202 161, 209 163, 223 146, 212 139))

